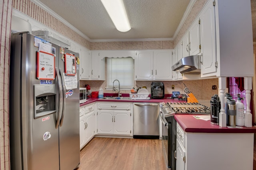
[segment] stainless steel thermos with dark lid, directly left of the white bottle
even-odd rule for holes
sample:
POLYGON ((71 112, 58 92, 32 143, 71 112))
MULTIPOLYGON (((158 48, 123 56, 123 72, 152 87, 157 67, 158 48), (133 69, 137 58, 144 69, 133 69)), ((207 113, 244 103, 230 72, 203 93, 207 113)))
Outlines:
POLYGON ((227 126, 236 126, 236 101, 227 101, 227 126))

